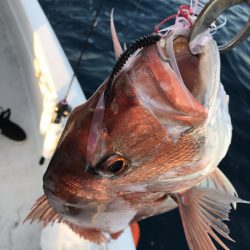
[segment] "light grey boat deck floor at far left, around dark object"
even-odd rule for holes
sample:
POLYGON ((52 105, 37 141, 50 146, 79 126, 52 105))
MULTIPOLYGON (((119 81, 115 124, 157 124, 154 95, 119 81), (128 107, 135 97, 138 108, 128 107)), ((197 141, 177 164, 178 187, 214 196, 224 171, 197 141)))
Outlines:
POLYGON ((24 224, 32 203, 42 194, 44 166, 38 165, 41 143, 24 71, 0 16, 0 107, 27 133, 15 142, 0 132, 0 249, 40 249, 41 226, 24 224), (31 153, 32 152, 32 153, 31 153))

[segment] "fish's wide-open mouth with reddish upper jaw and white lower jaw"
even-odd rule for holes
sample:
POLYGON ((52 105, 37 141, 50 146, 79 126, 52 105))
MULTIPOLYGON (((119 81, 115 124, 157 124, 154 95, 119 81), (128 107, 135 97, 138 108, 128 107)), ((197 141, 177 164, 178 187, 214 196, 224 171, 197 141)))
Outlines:
POLYGON ((184 36, 177 36, 172 45, 172 53, 160 43, 147 47, 128 73, 139 102, 177 141, 207 121, 219 86, 220 64, 213 40, 198 55, 190 52, 184 36), (160 50, 169 61, 162 60, 160 50))

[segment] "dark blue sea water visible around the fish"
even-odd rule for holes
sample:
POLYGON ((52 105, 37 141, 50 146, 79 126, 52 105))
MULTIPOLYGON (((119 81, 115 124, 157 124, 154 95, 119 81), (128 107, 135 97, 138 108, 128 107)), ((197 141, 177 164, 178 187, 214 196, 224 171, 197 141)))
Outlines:
MULTIPOLYGON (((97 0, 39 0, 51 22, 66 55, 75 67, 86 40, 86 33, 99 4, 97 0)), ((109 31, 109 16, 115 8, 114 18, 120 41, 129 43, 151 33, 165 17, 176 13, 187 1, 174 0, 106 0, 102 6, 84 53, 77 77, 87 97, 101 85, 115 63, 109 31)), ((236 6, 225 12, 228 22, 219 30, 218 43, 232 37, 247 20, 250 8, 236 6)), ((234 50, 221 55, 221 81, 230 95, 230 114, 233 139, 220 168, 233 183, 241 198, 250 200, 250 39, 234 50)), ((230 249, 250 249, 250 206, 239 204, 227 223, 236 240, 230 249)), ((140 222, 139 250, 186 250, 186 240, 178 211, 155 216, 140 222)))

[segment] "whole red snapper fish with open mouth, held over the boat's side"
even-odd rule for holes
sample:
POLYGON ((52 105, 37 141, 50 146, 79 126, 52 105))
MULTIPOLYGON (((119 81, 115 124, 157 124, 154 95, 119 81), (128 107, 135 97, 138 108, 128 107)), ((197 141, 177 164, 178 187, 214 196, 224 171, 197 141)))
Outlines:
POLYGON ((211 238, 228 249, 223 220, 245 201, 217 167, 232 133, 218 48, 211 37, 193 55, 188 31, 171 34, 132 44, 74 109, 26 220, 101 243, 178 207, 190 249, 216 249, 211 238))

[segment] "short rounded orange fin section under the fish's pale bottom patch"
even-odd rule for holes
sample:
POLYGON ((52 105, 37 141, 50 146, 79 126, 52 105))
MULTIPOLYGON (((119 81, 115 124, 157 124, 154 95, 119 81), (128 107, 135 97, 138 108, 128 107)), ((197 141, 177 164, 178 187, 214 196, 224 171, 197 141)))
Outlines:
POLYGON ((105 233, 102 233, 98 229, 83 229, 77 225, 71 224, 67 221, 63 221, 69 228, 78 234, 80 237, 84 238, 85 240, 89 240, 91 242, 101 244, 108 240, 105 233))

